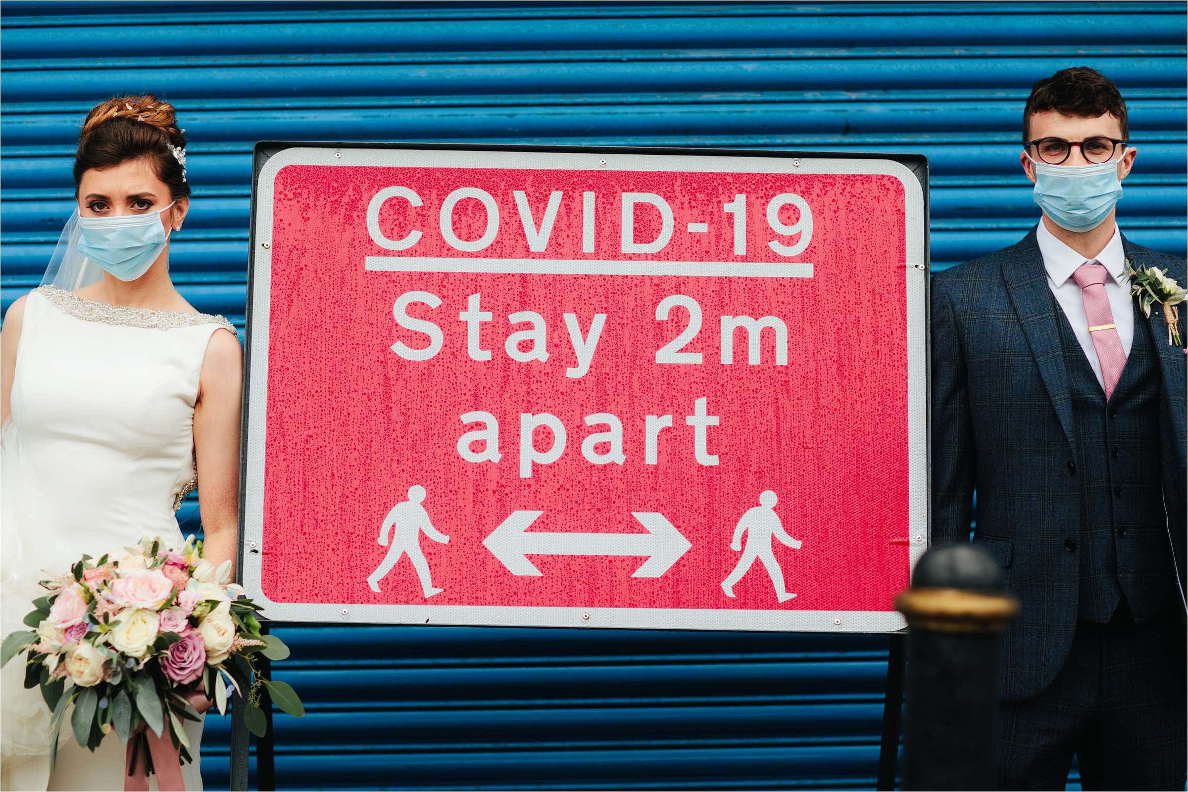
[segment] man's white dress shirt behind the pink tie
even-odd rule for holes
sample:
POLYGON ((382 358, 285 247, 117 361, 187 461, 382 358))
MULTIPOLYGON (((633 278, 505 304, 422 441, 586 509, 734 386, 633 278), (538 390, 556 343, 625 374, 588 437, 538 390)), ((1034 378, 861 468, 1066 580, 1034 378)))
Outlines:
POLYGON ((1056 302, 1060 303, 1064 316, 1068 317, 1068 323, 1073 325, 1073 334, 1081 342, 1085 356, 1089 359, 1089 366, 1093 367, 1093 373, 1098 378, 1098 385, 1105 391, 1101 363, 1098 361, 1098 350, 1093 348, 1089 321, 1085 316, 1085 299, 1081 297, 1081 287, 1073 280, 1073 273, 1082 264, 1097 261, 1105 266, 1106 272, 1110 273, 1105 283, 1106 297, 1110 298, 1110 310, 1113 312, 1118 338, 1121 341, 1121 350, 1130 357, 1130 346, 1135 341, 1135 309, 1130 296, 1130 277, 1126 274, 1126 254, 1121 248, 1121 234, 1118 232, 1118 226, 1114 226, 1113 236, 1093 259, 1086 259, 1056 239, 1042 218, 1036 229, 1036 242, 1040 243, 1043 267, 1048 272, 1048 287, 1056 296, 1056 302))

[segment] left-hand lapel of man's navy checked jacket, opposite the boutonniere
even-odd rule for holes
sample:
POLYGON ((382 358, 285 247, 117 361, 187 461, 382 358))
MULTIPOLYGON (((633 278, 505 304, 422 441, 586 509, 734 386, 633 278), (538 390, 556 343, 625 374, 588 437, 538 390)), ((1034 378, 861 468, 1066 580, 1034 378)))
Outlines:
POLYGON ((1056 316, 1060 306, 1048 287, 1048 273, 1044 271, 1040 245, 1036 243, 1035 229, 1004 254, 1001 266, 1015 315, 1019 317, 1023 335, 1040 368, 1040 376, 1051 399, 1051 406, 1056 410, 1056 417, 1060 418, 1064 437, 1075 452, 1073 397, 1056 324, 1063 317, 1056 316))

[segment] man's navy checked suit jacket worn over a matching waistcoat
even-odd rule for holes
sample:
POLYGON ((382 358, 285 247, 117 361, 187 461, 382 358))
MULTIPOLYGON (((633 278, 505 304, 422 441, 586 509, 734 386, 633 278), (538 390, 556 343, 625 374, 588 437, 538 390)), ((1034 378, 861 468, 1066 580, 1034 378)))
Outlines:
MULTIPOLYGON (((1184 260, 1123 236, 1135 268, 1158 267, 1181 285, 1184 260)), ((933 541, 968 541, 1004 568, 1018 616, 1000 645, 1000 697, 1043 691, 1064 666, 1078 610, 1078 560, 1064 550, 1078 536, 1080 500, 1068 475, 1074 458, 1073 407, 1057 321, 1035 229, 1020 242, 933 277, 933 541)), ((1181 310, 1181 338, 1188 304, 1181 310)), ((1186 363, 1169 346, 1159 305, 1151 323, 1161 384, 1158 444, 1168 540, 1184 591, 1186 363)))

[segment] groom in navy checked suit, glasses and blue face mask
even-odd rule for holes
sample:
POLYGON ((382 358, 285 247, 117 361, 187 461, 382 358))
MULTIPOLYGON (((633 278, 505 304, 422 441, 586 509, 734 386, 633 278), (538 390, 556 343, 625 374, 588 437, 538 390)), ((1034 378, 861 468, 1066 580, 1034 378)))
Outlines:
POLYGON ((1114 222, 1127 139, 1098 71, 1037 82, 1019 160, 1038 224, 933 279, 933 537, 968 540, 977 490, 973 541, 1020 603, 998 788, 1063 790, 1074 754, 1086 790, 1184 788, 1184 350, 1127 274, 1183 286, 1184 260, 1114 222))

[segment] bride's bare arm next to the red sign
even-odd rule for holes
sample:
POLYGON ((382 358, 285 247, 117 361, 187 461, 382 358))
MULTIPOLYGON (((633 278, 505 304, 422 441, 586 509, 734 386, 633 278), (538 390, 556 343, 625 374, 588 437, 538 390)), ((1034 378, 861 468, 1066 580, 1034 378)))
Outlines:
POLYGON ((197 455, 198 508, 203 550, 217 566, 235 564, 239 543, 240 398, 244 351, 229 330, 215 330, 202 360, 198 403, 194 408, 194 450, 197 455))

